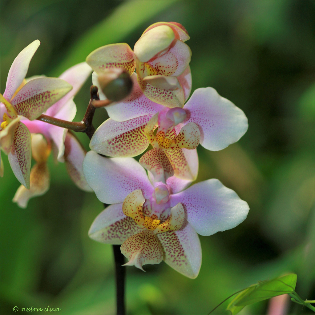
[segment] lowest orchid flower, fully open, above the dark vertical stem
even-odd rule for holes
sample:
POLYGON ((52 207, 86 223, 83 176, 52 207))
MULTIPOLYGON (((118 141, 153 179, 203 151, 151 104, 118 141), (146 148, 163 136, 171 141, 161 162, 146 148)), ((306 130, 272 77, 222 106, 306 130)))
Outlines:
MULTIPOLYGON (((149 180, 133 158, 105 158, 90 151, 83 172, 96 197, 110 204, 90 227, 90 238, 121 244, 126 265, 143 270, 164 260, 189 278, 201 267, 200 235, 231 229, 245 220, 248 204, 219 180, 185 190, 172 176, 166 184, 149 180)), ((150 173, 149 173, 149 176, 150 173)))

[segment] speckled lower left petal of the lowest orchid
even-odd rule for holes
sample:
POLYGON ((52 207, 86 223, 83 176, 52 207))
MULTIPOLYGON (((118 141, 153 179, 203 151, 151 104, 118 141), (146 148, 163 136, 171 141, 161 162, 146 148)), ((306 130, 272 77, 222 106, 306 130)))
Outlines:
POLYGON ((122 212, 122 203, 115 203, 103 210, 92 223, 89 237, 97 242, 121 245, 142 228, 122 212))

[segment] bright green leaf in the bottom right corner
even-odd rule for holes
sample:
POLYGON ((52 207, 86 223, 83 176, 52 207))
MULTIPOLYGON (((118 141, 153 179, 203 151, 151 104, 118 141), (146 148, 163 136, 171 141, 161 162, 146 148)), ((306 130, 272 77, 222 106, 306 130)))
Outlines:
POLYGON ((292 293, 295 289, 296 278, 295 273, 289 273, 272 280, 265 280, 253 284, 236 295, 226 309, 230 311, 232 315, 235 315, 246 305, 267 300, 277 295, 292 293))

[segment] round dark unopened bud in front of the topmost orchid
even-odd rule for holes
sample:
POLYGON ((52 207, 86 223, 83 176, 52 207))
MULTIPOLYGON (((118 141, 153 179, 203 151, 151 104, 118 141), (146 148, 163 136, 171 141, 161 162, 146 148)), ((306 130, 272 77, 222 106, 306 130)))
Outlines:
POLYGON ((98 83, 108 100, 114 102, 124 99, 132 90, 132 80, 127 72, 99 74, 98 83))

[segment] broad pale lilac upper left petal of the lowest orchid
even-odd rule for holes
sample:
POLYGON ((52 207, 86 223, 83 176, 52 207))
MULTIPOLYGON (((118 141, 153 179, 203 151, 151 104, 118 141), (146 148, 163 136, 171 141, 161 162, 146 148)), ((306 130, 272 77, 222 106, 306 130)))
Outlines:
POLYGON ((147 173, 133 158, 106 158, 90 151, 83 162, 83 173, 103 203, 123 202, 136 189, 141 189, 144 198, 152 196, 153 186, 147 173))

